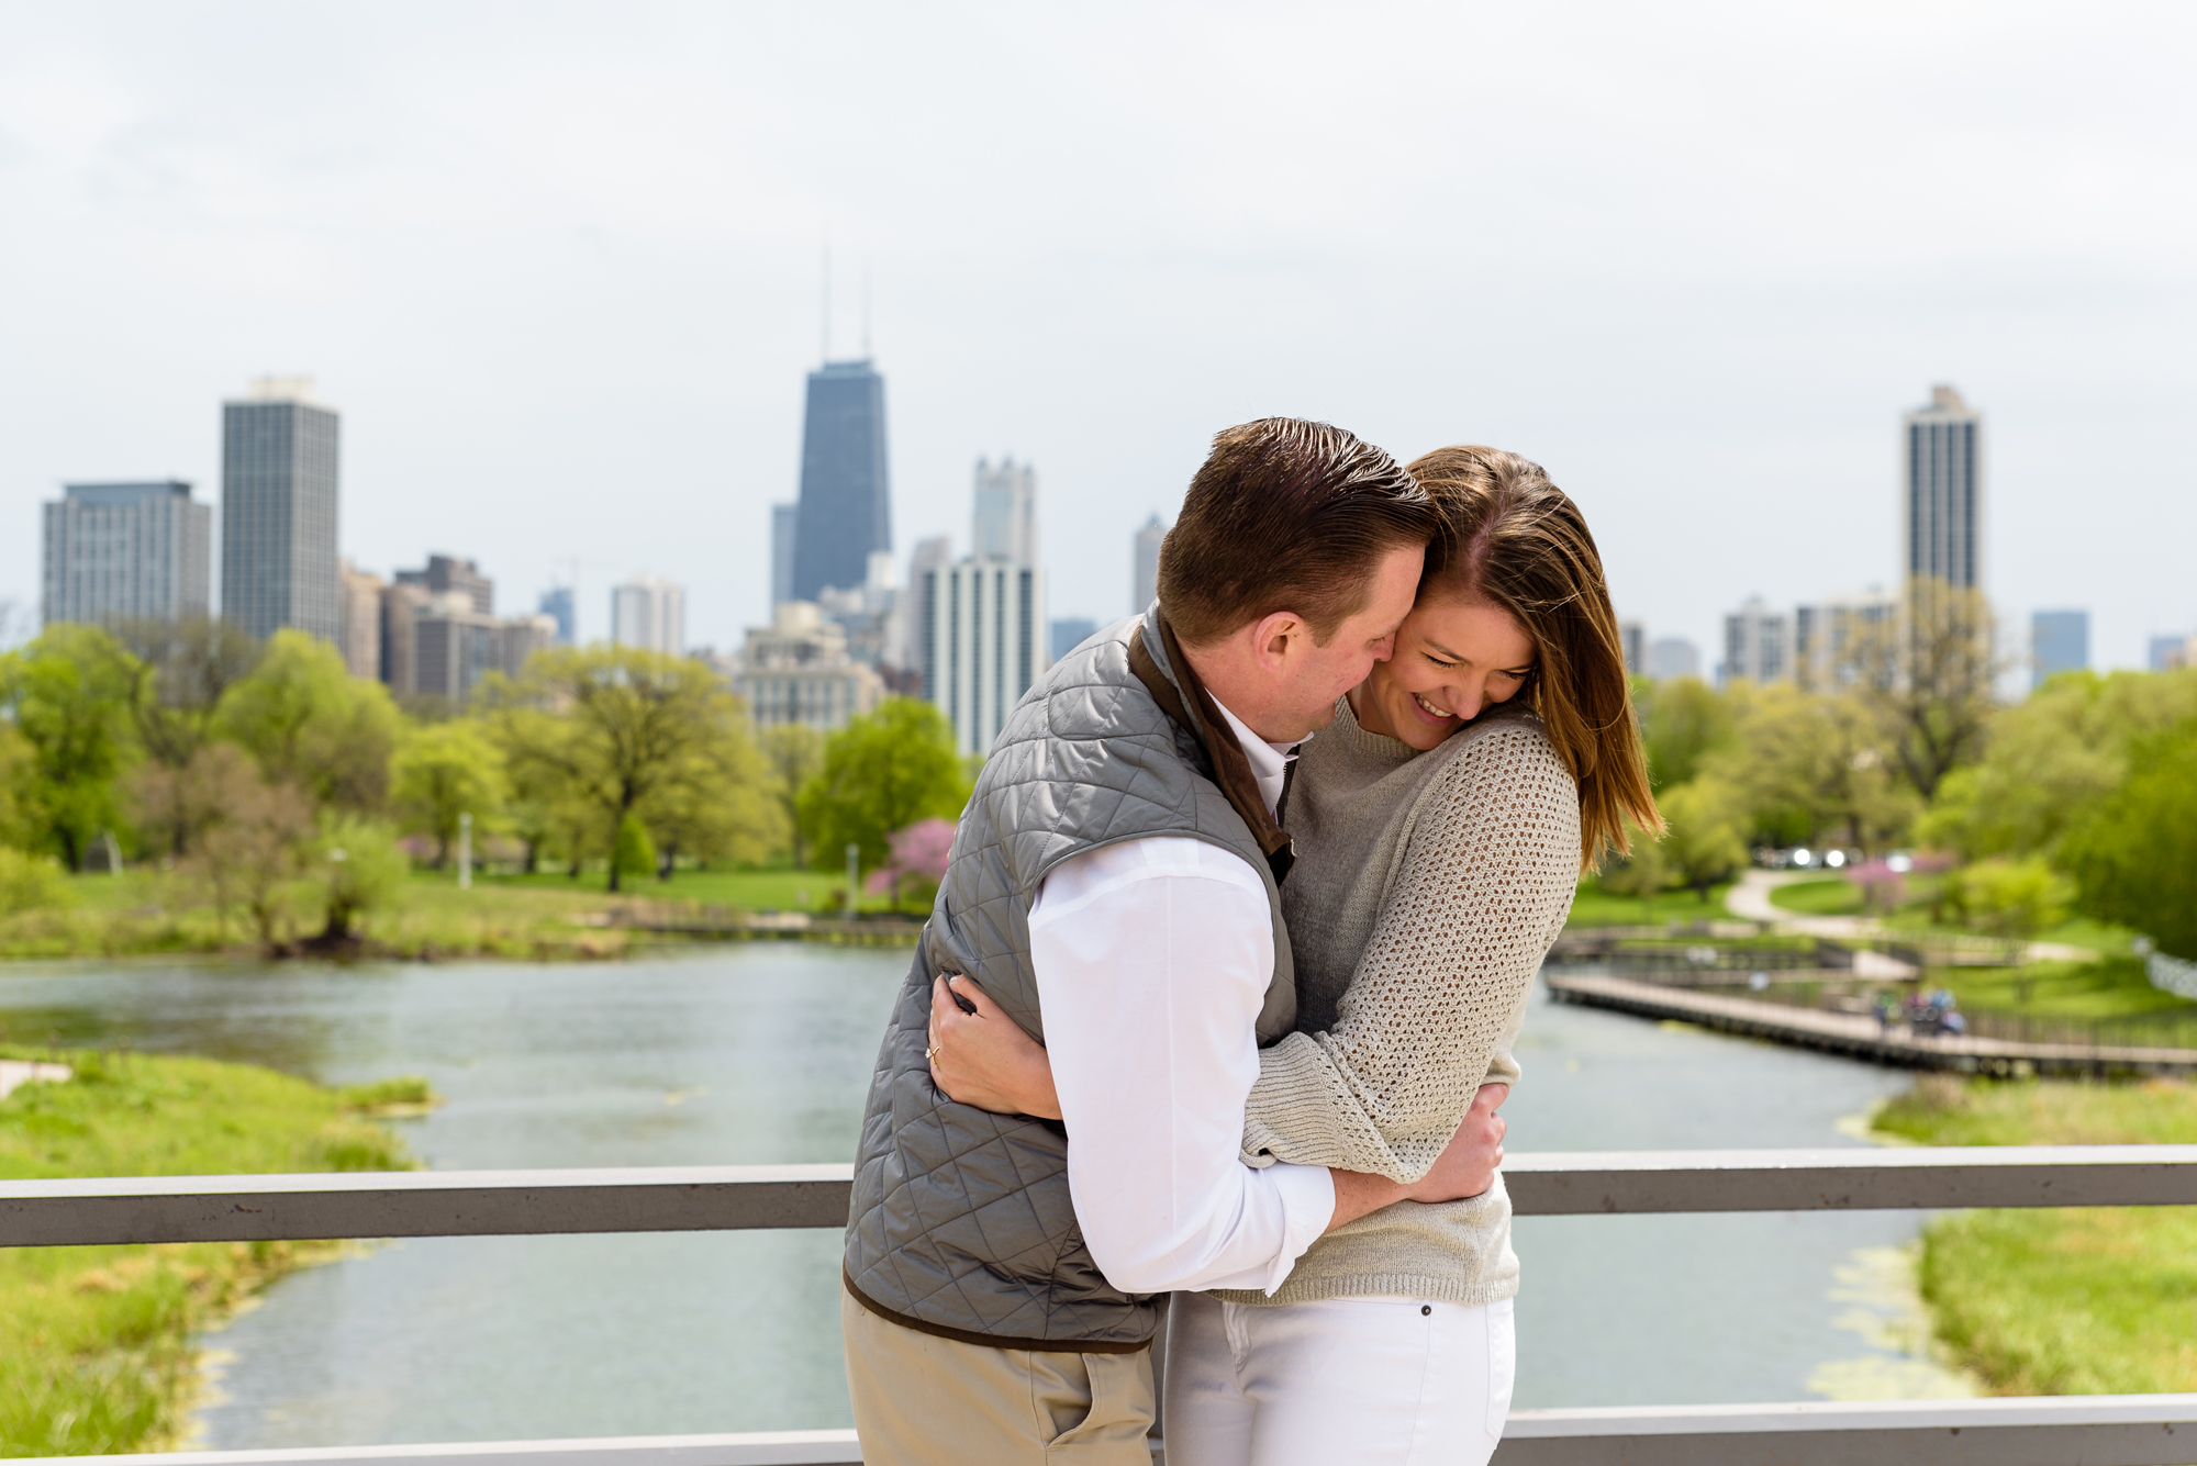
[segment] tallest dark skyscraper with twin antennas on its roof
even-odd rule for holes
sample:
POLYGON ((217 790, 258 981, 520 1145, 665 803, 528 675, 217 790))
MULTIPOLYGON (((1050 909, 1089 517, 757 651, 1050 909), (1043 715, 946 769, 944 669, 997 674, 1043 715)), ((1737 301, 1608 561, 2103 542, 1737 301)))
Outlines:
POLYGON ((885 377, 868 360, 824 362, 808 373, 802 426, 802 496, 793 525, 793 586, 813 601, 826 586, 868 579, 870 551, 892 549, 885 481, 885 377))

